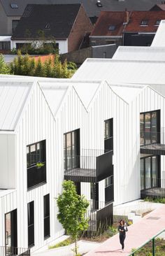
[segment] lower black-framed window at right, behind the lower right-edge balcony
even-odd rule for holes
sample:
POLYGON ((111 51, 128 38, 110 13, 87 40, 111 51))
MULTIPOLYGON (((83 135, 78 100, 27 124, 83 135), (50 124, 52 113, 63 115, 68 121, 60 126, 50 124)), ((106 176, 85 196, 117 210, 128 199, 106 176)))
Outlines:
POLYGON ((151 155, 141 158, 141 190, 159 187, 160 157, 151 155))

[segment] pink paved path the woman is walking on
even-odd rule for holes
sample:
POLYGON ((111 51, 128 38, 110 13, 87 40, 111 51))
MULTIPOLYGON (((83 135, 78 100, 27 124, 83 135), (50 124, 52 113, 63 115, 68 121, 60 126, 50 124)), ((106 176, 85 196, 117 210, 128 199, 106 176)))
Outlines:
POLYGON ((163 229, 165 229, 165 205, 152 211, 129 227, 129 232, 127 232, 125 239, 124 252, 121 250, 119 235, 117 234, 85 256, 127 256, 131 253, 132 248, 142 246, 143 243, 163 229))

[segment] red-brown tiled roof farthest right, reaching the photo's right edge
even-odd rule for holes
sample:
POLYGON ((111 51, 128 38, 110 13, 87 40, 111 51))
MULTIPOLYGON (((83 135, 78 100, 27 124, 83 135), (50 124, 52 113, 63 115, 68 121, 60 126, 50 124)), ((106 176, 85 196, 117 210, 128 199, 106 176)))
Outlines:
POLYGON ((158 25, 157 21, 165 19, 165 11, 133 11, 129 17, 129 23, 124 29, 124 32, 156 32, 158 25), (143 24, 142 22, 145 22, 143 24))

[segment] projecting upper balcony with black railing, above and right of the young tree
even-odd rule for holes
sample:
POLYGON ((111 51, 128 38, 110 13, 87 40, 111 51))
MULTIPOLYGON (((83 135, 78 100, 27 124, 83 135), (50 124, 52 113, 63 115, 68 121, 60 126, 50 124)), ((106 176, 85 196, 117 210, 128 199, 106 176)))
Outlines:
POLYGON ((113 175, 113 150, 82 150, 83 155, 66 157, 64 179, 97 183, 113 175), (66 164, 67 163, 67 164, 66 164))

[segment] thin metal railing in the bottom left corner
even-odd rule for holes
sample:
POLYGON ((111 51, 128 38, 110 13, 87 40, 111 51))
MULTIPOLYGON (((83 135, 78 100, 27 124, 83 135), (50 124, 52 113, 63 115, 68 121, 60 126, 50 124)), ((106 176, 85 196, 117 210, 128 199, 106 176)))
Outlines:
POLYGON ((30 256, 30 249, 12 246, 0 246, 1 256, 30 256))

